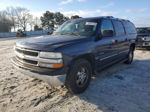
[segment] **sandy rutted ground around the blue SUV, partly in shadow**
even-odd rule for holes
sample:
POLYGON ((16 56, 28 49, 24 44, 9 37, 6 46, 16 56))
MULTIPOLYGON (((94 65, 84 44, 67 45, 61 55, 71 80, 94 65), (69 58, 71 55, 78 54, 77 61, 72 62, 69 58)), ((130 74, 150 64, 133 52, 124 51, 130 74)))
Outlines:
POLYGON ((16 71, 17 40, 0 40, 0 112, 150 112, 150 51, 136 50, 133 64, 113 65, 72 95, 16 71))

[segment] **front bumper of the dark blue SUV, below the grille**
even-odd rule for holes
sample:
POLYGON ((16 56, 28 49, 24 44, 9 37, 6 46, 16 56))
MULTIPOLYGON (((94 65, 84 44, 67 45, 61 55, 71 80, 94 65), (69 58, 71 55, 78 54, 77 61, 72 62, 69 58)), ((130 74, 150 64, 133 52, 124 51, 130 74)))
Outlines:
POLYGON ((21 73, 30 77, 43 80, 51 86, 59 86, 65 83, 67 68, 62 69, 46 69, 40 67, 32 67, 22 63, 19 63, 15 57, 12 58, 13 66, 21 73))

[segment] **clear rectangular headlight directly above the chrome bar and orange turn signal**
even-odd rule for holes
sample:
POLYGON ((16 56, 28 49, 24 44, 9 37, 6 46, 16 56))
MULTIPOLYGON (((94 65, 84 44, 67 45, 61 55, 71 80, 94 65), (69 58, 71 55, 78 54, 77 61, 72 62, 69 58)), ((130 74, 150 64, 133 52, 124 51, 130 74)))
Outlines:
POLYGON ((39 54, 40 58, 62 58, 62 54, 61 53, 54 53, 54 52, 40 52, 39 54))

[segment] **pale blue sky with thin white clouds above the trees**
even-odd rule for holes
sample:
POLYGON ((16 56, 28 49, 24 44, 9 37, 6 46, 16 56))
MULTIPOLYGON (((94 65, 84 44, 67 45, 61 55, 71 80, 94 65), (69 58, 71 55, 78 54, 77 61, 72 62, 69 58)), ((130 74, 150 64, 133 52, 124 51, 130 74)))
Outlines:
POLYGON ((150 26, 150 0, 0 0, 0 10, 9 6, 25 7, 37 17, 48 10, 66 16, 114 16, 150 26))

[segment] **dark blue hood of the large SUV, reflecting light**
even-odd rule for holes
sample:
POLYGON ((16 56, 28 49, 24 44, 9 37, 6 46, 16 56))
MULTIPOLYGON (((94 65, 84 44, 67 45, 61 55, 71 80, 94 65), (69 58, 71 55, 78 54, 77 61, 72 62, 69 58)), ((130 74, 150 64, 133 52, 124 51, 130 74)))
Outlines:
POLYGON ((65 47, 74 43, 81 42, 87 39, 86 37, 78 36, 40 36, 24 39, 16 43, 16 46, 39 50, 39 51, 52 51, 59 47, 65 47))

